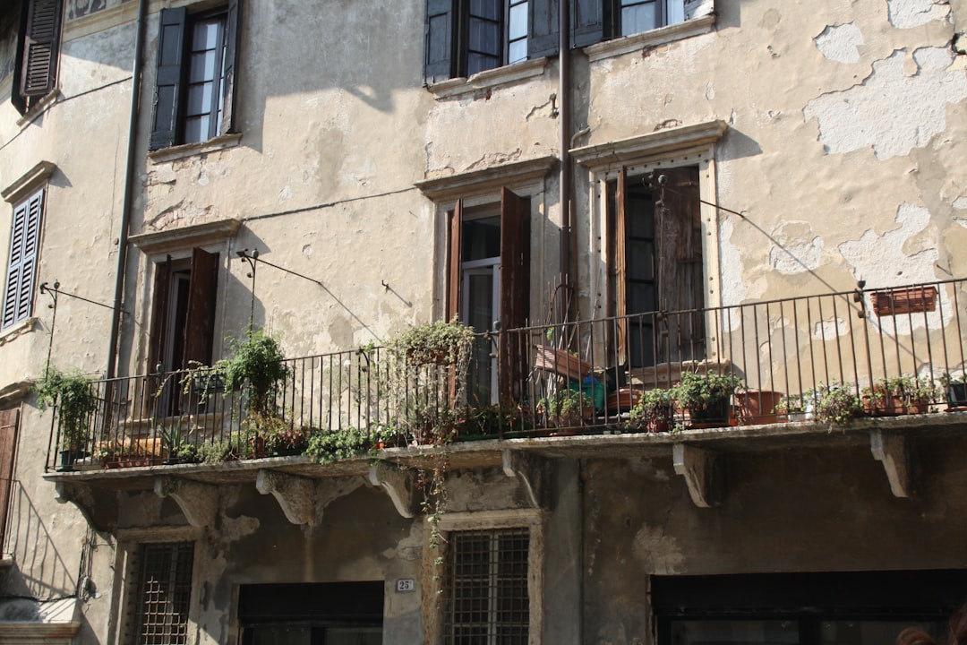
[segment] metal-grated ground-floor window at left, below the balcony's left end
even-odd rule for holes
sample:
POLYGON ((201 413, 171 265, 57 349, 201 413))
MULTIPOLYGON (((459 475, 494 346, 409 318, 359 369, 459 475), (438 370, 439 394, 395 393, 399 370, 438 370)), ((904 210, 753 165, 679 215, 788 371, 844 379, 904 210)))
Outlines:
POLYGON ((185 645, 191 598, 194 544, 174 542, 141 546, 137 645, 185 645))

